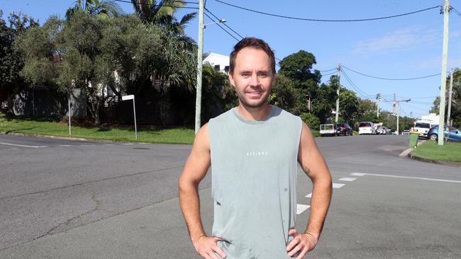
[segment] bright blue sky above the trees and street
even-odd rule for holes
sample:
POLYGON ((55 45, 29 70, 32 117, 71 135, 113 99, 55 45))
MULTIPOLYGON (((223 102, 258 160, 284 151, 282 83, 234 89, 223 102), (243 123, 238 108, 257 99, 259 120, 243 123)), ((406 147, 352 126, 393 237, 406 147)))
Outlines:
MULTIPOLYGON (((189 0, 196 2, 196 0, 189 0)), ((387 0, 387 1, 238 1, 223 0, 266 13, 300 18, 326 20, 350 20, 377 18, 409 13, 443 4, 442 0, 387 0)), ((22 11, 38 18, 40 23, 52 15, 64 17, 73 0, 1 0, 0 9, 4 18, 9 11, 22 11)), ((119 3, 127 13, 133 12, 128 3, 119 3)), ((452 0, 450 5, 461 12, 461 1, 452 0)), ((195 7, 197 4, 188 4, 195 7)), ((306 50, 315 55, 315 69, 329 70, 338 63, 349 69, 371 76, 404 79, 439 74, 441 71, 443 43, 443 15, 439 8, 415 13, 409 16, 379 21, 362 22, 312 22, 264 16, 241 10, 216 0, 207 0, 206 8, 218 18, 225 18, 226 25, 242 36, 255 36, 266 40, 274 49, 277 58, 306 50)), ((177 16, 194 9, 182 9, 177 16)), ((211 16, 211 15, 210 15, 211 16)), ((212 16, 211 16, 212 17, 212 16)), ((211 23, 205 16, 205 23, 211 23)), ((226 27, 223 27, 226 28, 226 27)), ((228 29, 228 28, 226 28, 228 29)), ((230 30, 229 30, 230 31, 230 30)), ((196 39, 198 19, 192 21, 187 34, 196 39)), ((239 38, 238 35, 235 35, 239 38)), ((236 40, 218 25, 208 25, 204 32, 204 51, 228 54, 236 40)), ((450 13, 450 40, 448 46, 448 71, 461 67, 461 16, 450 13)), ((440 94, 440 76, 411 81, 387 81, 372 79, 344 69, 352 84, 341 76, 341 84, 357 92, 360 98, 374 100, 381 93, 387 100, 411 98, 401 103, 401 114, 411 117, 426 115, 435 96, 440 94)), ((332 71, 323 72, 323 74, 332 71)), ((327 81, 330 75, 323 76, 327 81)), ((391 110, 392 103, 380 103, 384 110, 391 110)))

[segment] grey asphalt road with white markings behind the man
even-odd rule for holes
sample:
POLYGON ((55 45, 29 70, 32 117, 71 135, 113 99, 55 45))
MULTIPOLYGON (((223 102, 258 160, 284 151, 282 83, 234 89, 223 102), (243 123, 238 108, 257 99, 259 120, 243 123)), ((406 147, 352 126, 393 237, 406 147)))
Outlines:
MULTIPOLYGON (((317 143, 335 188, 313 257, 461 258, 461 168, 399 158, 407 136, 317 143)), ((199 258, 177 200, 190 148, 0 135, 0 258, 199 258)), ((302 231, 311 184, 298 179, 302 231)))

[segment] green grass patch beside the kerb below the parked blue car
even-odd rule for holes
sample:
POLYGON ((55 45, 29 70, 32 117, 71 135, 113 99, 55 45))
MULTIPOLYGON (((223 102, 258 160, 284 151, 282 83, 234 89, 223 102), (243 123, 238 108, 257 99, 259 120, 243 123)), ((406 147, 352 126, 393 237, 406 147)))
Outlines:
POLYGON ((423 159, 461 162, 461 143, 444 142, 443 146, 439 146, 437 142, 428 140, 411 151, 411 154, 423 159))

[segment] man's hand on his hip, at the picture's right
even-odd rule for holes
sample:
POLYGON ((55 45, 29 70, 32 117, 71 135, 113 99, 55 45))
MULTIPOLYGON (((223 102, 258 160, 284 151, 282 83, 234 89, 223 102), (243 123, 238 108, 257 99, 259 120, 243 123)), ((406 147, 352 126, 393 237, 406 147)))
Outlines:
POLYGON ((287 252, 288 256, 292 257, 299 253, 296 256, 296 259, 301 259, 306 255, 307 252, 311 251, 314 247, 316 247, 318 238, 307 233, 298 233, 296 229, 290 229, 288 231, 289 236, 293 236, 293 240, 290 241, 287 245, 287 252))

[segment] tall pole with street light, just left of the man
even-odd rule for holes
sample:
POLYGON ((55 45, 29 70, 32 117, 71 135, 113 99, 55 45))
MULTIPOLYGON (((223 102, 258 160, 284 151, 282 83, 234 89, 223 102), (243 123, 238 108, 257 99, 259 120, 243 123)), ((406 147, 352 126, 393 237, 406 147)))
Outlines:
POLYGON ((199 132, 201 126, 201 67, 204 48, 204 0, 199 0, 199 48, 197 50, 197 82, 195 99, 195 134, 199 132))

